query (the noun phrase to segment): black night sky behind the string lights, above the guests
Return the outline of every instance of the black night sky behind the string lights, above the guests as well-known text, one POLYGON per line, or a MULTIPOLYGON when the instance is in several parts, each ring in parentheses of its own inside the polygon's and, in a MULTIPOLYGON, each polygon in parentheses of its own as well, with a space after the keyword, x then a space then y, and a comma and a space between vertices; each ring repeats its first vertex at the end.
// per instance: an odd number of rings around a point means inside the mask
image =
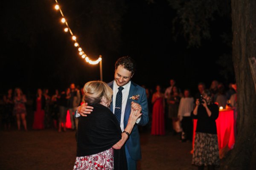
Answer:
MULTIPOLYGON (((231 48, 224 44, 223 31, 231 32, 231 21, 217 18, 210 23, 212 37, 200 48, 187 48, 180 34, 173 40, 172 20, 175 11, 166 0, 148 4, 145 0, 58 0, 70 28, 84 51, 96 59, 102 55, 103 80, 113 80, 117 58, 130 55, 137 61, 132 80, 139 85, 164 88, 169 79, 180 88, 195 91, 203 81, 228 83, 216 63, 231 48), (168 61, 170 60, 170 61, 168 61)), ((5 2, 1 8, 1 93, 21 87, 31 93, 36 88, 67 87, 70 82, 83 86, 100 79, 99 65, 89 65, 73 46, 70 34, 64 33, 55 11, 54 0, 5 2)))

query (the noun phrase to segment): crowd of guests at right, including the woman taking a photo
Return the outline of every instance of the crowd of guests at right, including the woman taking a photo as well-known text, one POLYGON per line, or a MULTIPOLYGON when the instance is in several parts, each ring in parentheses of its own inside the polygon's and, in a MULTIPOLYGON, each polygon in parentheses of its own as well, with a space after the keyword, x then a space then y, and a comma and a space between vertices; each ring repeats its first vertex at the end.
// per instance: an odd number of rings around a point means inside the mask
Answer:
MULTIPOLYGON (((150 93, 150 90, 146 91, 150 93)), ((198 170, 214 170, 219 166, 218 136, 215 120, 219 110, 234 109, 236 119, 236 84, 224 84, 213 80, 206 88, 204 82, 198 83, 198 92, 192 96, 189 89, 181 89, 174 79, 163 92, 156 85, 155 92, 148 94, 148 102, 152 104, 151 135, 165 135, 169 130, 173 135, 180 134, 181 142, 192 142, 193 119, 197 120, 195 140, 192 150, 192 164, 198 170), (151 96, 151 97, 150 97, 151 96)))

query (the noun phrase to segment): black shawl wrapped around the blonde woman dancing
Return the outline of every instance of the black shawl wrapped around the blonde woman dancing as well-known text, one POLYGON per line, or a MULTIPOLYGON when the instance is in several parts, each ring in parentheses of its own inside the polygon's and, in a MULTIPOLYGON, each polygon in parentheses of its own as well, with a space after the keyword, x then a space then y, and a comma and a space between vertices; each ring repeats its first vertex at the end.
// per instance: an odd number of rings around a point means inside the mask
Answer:
MULTIPOLYGON (((92 106, 91 114, 79 117, 76 154, 78 157, 108 150, 122 138, 122 130, 114 114, 101 104, 92 106)), ((120 150, 114 149, 114 169, 127 169, 124 146, 120 150)))

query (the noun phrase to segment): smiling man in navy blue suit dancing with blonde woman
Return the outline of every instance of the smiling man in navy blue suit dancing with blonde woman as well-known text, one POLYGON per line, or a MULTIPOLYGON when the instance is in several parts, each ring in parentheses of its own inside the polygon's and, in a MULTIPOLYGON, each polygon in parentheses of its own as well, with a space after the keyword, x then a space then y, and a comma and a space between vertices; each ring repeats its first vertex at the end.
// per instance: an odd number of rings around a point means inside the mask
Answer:
MULTIPOLYGON (((108 83, 108 85, 113 89, 113 98, 110 109, 114 114, 115 112, 116 114, 117 112, 120 112, 117 111, 118 109, 121 110, 121 114, 117 119, 120 119, 119 121, 122 131, 125 129, 128 123, 131 109, 137 110, 139 107, 141 107, 142 116, 137 119, 137 124, 134 125, 130 137, 125 143, 125 154, 128 170, 136 170, 137 160, 141 159, 140 134, 138 126, 144 126, 148 123, 148 102, 145 89, 131 81, 131 77, 133 77, 135 72, 135 65, 135 62, 131 57, 127 56, 119 58, 115 63, 114 80, 108 83), (122 106, 116 107, 116 105, 119 105, 117 104, 117 100, 120 98, 118 96, 118 93, 120 93, 120 87, 122 87, 122 106)), ((77 108, 76 117, 80 115, 86 116, 86 114, 90 113, 92 109, 93 108, 87 106, 87 104, 79 106, 77 108)))

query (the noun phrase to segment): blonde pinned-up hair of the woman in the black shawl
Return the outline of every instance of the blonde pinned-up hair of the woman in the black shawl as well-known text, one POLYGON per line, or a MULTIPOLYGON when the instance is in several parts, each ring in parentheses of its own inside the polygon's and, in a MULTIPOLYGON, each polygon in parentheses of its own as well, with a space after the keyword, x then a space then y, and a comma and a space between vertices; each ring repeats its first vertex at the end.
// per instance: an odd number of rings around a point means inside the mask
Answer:
POLYGON ((113 90, 102 81, 90 81, 84 85, 84 102, 88 105, 95 105, 101 102, 103 96, 110 103, 112 100, 113 90))

